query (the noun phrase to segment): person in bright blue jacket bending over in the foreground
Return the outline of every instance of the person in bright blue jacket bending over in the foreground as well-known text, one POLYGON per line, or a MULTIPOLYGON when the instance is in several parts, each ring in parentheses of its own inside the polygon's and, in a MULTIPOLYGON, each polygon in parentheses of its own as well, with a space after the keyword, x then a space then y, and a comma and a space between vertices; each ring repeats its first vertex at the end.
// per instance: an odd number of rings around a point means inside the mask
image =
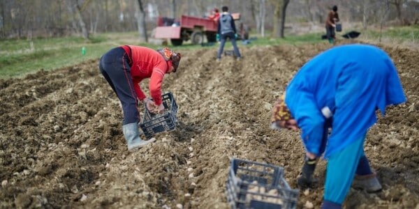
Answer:
POLYGON ((297 184, 311 183, 316 161, 328 160, 322 208, 341 208, 353 187, 382 189, 363 144, 376 110, 406 102, 390 57, 372 45, 341 45, 305 63, 272 110, 272 127, 301 130, 306 150, 297 184), (331 132, 330 132, 331 130, 331 132))

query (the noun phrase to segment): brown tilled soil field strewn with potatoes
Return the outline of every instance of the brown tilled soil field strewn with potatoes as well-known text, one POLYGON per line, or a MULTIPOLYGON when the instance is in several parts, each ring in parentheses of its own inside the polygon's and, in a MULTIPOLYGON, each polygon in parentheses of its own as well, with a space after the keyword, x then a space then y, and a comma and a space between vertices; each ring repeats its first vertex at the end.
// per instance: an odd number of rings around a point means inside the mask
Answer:
MULTIPOLYGON (((0 80, 0 208, 229 208, 230 157, 284 167, 296 188, 300 133, 271 130, 270 111, 295 72, 330 47, 241 47, 242 61, 220 63, 215 49, 180 50, 178 72, 163 82, 179 107, 177 128, 135 152, 98 60, 0 80)), ((381 47, 408 102, 389 107, 367 135, 383 191, 351 189, 344 207, 419 208, 419 52, 381 47)), ((297 208, 320 207, 324 176, 321 161, 318 187, 300 191, 297 208)))

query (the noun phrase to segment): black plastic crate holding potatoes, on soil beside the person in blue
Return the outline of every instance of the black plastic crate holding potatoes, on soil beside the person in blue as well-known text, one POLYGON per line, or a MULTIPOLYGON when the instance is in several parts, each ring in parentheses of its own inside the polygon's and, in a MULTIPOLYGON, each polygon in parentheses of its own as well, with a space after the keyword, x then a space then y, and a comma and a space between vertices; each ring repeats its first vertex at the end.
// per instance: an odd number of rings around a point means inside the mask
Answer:
POLYGON ((284 179, 284 169, 271 164, 231 159, 226 182, 231 208, 297 208, 298 189, 284 179))

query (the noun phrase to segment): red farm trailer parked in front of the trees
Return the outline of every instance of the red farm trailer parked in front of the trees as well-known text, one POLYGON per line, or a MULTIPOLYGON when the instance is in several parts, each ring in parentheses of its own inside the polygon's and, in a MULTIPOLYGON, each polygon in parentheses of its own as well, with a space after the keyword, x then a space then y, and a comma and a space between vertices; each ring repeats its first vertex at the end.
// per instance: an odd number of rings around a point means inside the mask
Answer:
MULTIPOLYGON (((240 13, 233 13, 234 20, 240 20, 240 13)), ((193 44, 202 44, 204 36, 208 42, 216 42, 218 22, 205 17, 182 15, 179 22, 172 20, 168 25, 163 21, 166 17, 159 17, 154 38, 168 38, 172 45, 182 45, 183 41, 191 40, 193 44)), ((170 20, 166 18, 166 20, 170 20)), ((170 21, 169 21, 170 22, 170 21)))

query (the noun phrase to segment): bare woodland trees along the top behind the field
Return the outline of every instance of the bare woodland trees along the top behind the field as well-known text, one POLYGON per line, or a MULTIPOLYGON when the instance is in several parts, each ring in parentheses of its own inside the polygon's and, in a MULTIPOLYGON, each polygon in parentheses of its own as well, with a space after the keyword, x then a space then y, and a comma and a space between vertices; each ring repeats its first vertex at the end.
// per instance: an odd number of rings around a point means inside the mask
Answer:
POLYGON ((59 37, 138 31, 147 41, 159 16, 205 17, 228 6, 254 33, 284 37, 286 24, 323 24, 336 3, 341 20, 377 25, 419 24, 418 0, 0 0, 0 38, 59 37))

